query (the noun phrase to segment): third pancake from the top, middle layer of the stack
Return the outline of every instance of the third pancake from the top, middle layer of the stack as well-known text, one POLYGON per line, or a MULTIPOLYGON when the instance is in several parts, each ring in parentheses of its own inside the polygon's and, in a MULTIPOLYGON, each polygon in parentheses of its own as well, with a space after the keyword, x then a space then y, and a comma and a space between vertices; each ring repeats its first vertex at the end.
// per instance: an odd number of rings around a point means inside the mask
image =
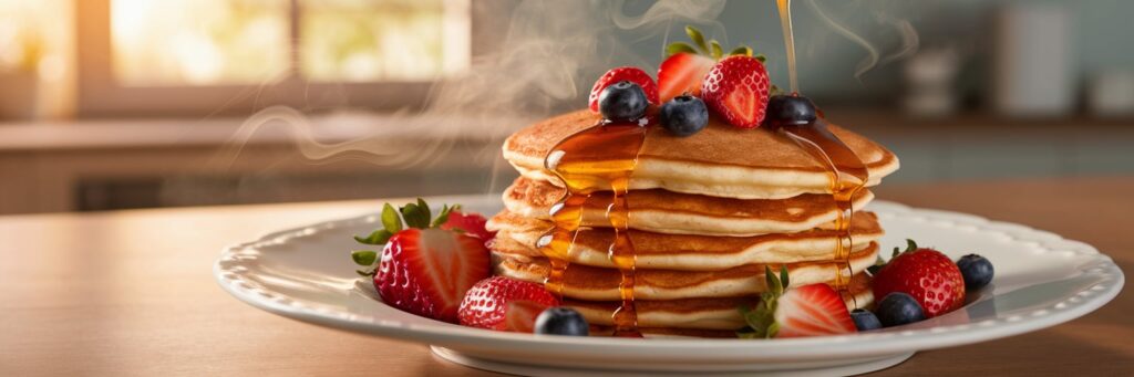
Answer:
MULTIPOLYGON (((536 243, 551 223, 503 211, 489 221, 489 229, 497 231, 491 248, 494 251, 542 257, 536 243)), ((862 250, 882 237, 878 217, 860 212, 850 223, 852 250, 862 250)), ((627 232, 641 268, 685 271, 714 271, 747 264, 780 264, 835 258, 839 233, 816 229, 799 233, 772 233, 752 237, 712 237, 694 234, 665 234, 631 230, 627 232)), ((607 250, 613 240, 609 228, 581 229, 575 238, 569 262, 581 265, 613 268, 607 250)))

